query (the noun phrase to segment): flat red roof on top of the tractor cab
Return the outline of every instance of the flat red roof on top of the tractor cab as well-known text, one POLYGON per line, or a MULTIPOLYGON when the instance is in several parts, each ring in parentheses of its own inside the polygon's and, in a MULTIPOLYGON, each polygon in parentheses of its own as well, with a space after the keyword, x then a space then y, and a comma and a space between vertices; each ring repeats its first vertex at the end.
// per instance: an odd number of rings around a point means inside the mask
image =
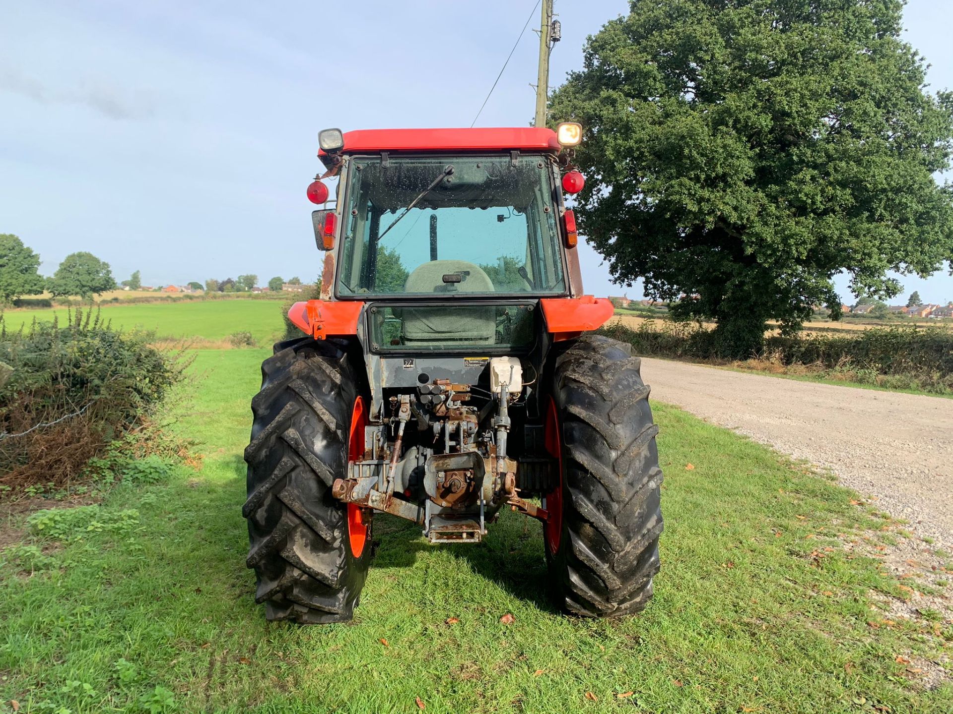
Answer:
MULTIPOLYGON (((553 129, 359 129, 344 132, 344 153, 377 151, 557 151, 553 129)), ((319 151, 318 156, 323 156, 319 151)))

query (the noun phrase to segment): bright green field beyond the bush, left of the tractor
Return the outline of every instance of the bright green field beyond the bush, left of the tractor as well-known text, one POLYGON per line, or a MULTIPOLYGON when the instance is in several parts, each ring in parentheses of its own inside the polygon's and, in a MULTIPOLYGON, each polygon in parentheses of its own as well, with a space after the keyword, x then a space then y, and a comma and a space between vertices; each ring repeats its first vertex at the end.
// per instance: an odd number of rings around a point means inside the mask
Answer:
MULTIPOLYGON (((148 293, 147 293, 148 294, 148 293)), ((4 315, 7 329, 29 326, 33 319, 65 321, 66 307, 12 310, 4 315)), ((274 300, 215 300, 182 303, 103 306, 102 316, 113 327, 153 330, 158 337, 197 337, 222 340, 233 332, 251 332, 261 345, 280 337, 281 307, 274 300)))

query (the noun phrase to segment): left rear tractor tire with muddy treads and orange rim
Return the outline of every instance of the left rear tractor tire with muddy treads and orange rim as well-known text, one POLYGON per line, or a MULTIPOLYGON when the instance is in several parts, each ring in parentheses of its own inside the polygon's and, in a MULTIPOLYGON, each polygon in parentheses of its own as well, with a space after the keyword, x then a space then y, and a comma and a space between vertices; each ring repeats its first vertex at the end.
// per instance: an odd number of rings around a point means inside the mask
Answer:
POLYGON ((275 345, 261 373, 242 509, 255 602, 269 620, 346 622, 371 560, 369 517, 331 495, 349 442, 363 448, 354 371, 334 341, 303 338, 275 345))

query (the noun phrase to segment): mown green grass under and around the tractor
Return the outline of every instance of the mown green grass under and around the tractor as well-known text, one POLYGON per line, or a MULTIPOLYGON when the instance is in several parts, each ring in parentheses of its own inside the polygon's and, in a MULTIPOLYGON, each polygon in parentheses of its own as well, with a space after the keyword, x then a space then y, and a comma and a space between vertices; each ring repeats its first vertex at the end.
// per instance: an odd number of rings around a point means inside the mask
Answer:
POLYGON ((891 620, 881 608, 905 591, 842 546, 876 539, 884 521, 672 407, 656 407, 666 529, 641 616, 554 611, 540 528, 507 512, 483 545, 430 546, 378 517, 353 623, 266 623, 240 513, 266 354, 198 353, 178 427, 204 464, 108 493, 101 512, 134 509, 132 526, 77 526, 65 544, 31 536, 0 556, 0 699, 61 714, 418 712, 416 698, 428 714, 953 711, 948 680, 926 689, 898 662, 939 661, 953 628, 891 620))

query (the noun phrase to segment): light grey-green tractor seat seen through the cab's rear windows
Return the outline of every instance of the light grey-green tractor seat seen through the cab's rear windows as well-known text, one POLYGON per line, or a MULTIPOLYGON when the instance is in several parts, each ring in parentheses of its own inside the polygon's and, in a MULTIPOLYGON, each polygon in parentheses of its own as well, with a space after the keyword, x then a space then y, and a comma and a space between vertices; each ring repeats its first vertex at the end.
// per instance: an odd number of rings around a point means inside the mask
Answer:
MULTIPOLYGON (((463 260, 434 260, 415 268, 404 285, 407 293, 435 293, 452 301, 466 292, 493 292, 493 281, 483 268, 463 260), (460 275, 459 283, 444 283, 443 276, 460 275)), ((493 345, 497 337, 495 307, 404 307, 404 343, 436 346, 445 343, 493 345)))

